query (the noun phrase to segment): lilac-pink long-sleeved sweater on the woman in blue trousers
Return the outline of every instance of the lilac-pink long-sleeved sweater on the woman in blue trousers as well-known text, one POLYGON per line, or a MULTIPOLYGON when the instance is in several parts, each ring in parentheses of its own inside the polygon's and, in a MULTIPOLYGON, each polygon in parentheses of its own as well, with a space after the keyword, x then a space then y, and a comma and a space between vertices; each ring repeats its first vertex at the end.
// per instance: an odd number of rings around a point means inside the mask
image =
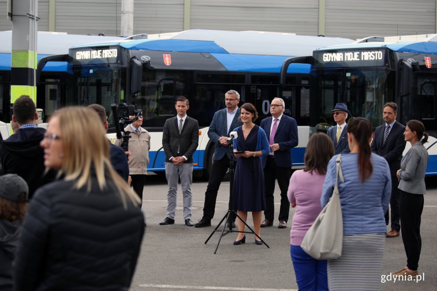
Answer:
POLYGON ((290 203, 296 202, 296 211, 290 231, 290 244, 301 245, 303 236, 322 210, 320 196, 325 175, 298 170, 291 175, 287 196, 290 203))

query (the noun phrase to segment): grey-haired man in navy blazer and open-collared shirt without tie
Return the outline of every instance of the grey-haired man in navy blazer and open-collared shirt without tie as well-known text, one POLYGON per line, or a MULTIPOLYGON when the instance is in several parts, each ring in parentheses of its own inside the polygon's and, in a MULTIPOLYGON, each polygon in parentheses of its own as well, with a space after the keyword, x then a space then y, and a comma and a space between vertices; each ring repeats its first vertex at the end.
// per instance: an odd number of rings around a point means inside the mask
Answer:
MULTIPOLYGON (((211 226, 211 219, 214 217, 214 210, 216 208, 218 188, 220 187, 221 180, 223 180, 229 169, 229 162, 231 161, 227 138, 232 130, 243 124, 237 120, 238 116, 240 116, 240 109, 237 106, 239 101, 240 94, 238 94, 238 92, 235 90, 226 92, 226 108, 214 113, 213 121, 209 126, 208 137, 214 144, 214 163, 205 192, 203 216, 202 219, 194 225, 195 227, 211 226)), ((233 217, 233 221, 235 221, 235 216, 233 217)), ((232 224, 232 227, 235 227, 234 222, 232 222, 232 224)))

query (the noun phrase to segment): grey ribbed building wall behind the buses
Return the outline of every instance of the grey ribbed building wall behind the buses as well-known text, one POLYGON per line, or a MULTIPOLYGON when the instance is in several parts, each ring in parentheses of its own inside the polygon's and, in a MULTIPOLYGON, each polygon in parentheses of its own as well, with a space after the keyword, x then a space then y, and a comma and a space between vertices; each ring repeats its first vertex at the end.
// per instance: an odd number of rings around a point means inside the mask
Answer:
MULTIPOLYGON (((55 31, 120 34, 122 0, 39 0, 39 31, 49 30, 49 3, 55 3, 55 31)), ((134 0, 134 34, 184 30, 190 3, 190 29, 319 33, 319 1, 325 2, 324 34, 370 35, 436 33, 437 0, 134 0)), ((0 0, 0 31, 11 30, 7 0, 0 0)), ((320 23, 323 26, 323 23, 320 23)))

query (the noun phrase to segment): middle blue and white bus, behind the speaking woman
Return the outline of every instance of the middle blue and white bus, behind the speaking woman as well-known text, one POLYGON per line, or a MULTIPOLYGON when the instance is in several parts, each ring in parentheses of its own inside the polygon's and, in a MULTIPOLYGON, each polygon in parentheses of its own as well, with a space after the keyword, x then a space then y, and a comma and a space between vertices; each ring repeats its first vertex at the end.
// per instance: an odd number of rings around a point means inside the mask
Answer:
MULTIPOLYGON (((310 65, 292 65, 287 85, 281 89, 279 72, 292 56, 303 56, 327 45, 353 42, 344 38, 302 36, 274 32, 225 32, 189 30, 166 39, 137 39, 74 47, 68 56, 73 81, 68 95, 78 104, 98 103, 105 107, 110 126, 110 105, 125 102, 143 112, 143 127, 151 134, 148 171, 165 170, 162 129, 166 119, 176 115, 178 96, 189 99, 187 114, 199 121, 199 147, 194 170, 208 176, 214 146, 207 130, 216 111, 225 107, 230 89, 243 102, 253 103, 261 119, 269 114, 270 100, 282 97, 285 114, 296 118, 299 146, 293 149, 293 163, 303 164, 309 134, 310 65)), ((42 67, 44 60, 38 67, 42 67)), ((111 132, 111 131, 110 131, 111 132)), ((114 130, 112 131, 114 132, 114 130)), ((109 137, 114 140, 115 134, 109 137)))

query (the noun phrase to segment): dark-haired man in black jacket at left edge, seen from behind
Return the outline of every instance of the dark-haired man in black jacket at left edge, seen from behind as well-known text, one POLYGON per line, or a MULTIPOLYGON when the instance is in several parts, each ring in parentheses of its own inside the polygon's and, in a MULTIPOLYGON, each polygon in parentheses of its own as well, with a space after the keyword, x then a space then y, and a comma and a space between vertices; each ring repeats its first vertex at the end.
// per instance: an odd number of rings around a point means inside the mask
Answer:
POLYGON ((29 198, 35 190, 50 182, 51 175, 44 175, 44 151, 39 143, 46 129, 36 127, 36 106, 27 95, 20 96, 12 107, 12 121, 18 130, 0 145, 0 161, 5 174, 17 174, 29 185, 29 198))

